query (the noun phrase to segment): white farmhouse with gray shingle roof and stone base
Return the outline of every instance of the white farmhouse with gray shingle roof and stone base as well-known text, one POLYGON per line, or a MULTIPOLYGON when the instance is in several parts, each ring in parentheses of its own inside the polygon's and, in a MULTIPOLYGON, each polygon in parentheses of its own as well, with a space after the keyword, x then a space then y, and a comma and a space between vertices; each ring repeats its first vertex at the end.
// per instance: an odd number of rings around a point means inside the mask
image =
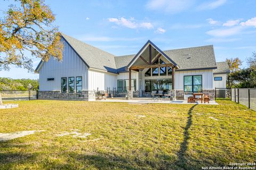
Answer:
POLYGON ((50 58, 35 70, 41 99, 95 100, 95 92, 107 90, 132 98, 171 89, 183 97, 226 88, 229 70, 215 62, 212 45, 162 51, 148 40, 135 55, 115 56, 65 34, 61 41, 62 61, 50 58))

